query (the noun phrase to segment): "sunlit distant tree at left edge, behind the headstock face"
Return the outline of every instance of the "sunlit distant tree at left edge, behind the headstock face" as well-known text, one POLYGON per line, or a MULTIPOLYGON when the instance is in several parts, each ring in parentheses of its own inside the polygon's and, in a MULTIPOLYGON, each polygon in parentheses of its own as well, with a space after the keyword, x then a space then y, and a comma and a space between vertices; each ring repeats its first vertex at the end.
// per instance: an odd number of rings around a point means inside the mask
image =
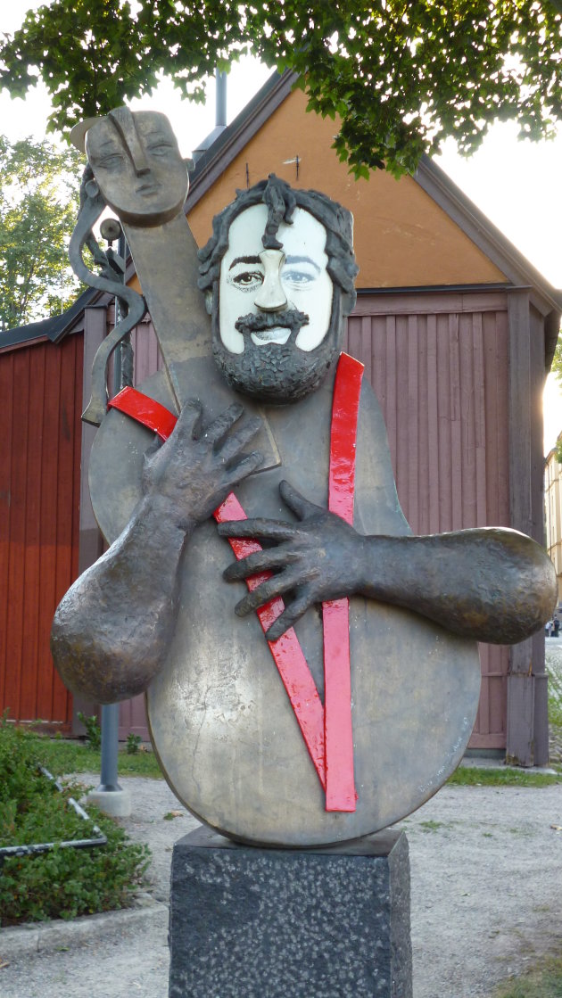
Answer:
POLYGON ((57 315, 79 283, 68 261, 81 157, 0 136, 0 330, 57 315))

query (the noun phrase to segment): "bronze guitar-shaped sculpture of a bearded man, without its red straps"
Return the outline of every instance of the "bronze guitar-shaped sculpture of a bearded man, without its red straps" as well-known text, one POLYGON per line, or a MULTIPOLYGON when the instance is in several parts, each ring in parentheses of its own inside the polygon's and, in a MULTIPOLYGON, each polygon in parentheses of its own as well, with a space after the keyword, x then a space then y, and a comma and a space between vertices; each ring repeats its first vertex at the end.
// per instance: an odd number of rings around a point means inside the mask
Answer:
POLYGON ((513 643, 538 630, 556 598, 554 570, 514 531, 412 537, 365 383, 353 525, 329 511, 335 361, 353 303, 350 218, 271 178, 216 220, 198 276, 180 205, 185 170, 162 118, 120 110, 90 123, 87 146, 91 194, 125 226, 165 355, 168 376, 143 392, 182 412, 146 456, 144 427, 118 411, 104 419, 91 490, 112 547, 61 602, 53 655, 67 685, 94 699, 148 688, 164 771, 213 827, 272 844, 356 838, 418 806, 458 763, 478 702, 475 640, 513 643), (187 272, 182 300, 178 259, 187 272), (165 263, 174 271, 172 305, 165 263), (189 314, 186 300, 195 302, 189 314), (247 454, 254 438, 258 449, 247 454), (210 517, 235 486, 250 519, 219 533, 263 540, 266 550, 233 566, 210 517), (241 580, 264 571, 272 578, 243 596, 241 580), (253 612, 280 596, 289 599, 270 621, 272 653, 294 628, 318 716, 319 605, 351 597, 356 804, 325 809, 321 766, 314 771, 253 612))

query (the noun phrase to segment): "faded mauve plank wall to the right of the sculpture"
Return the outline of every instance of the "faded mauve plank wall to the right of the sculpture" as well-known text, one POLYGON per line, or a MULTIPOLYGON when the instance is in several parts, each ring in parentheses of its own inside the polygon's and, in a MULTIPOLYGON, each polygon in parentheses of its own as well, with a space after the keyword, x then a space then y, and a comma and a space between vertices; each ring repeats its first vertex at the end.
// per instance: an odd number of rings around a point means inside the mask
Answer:
MULTIPOLYGON (((347 349, 376 392, 414 533, 510 525, 502 293, 360 295, 347 349)), ((472 748, 503 749, 509 652, 480 646, 472 748)))

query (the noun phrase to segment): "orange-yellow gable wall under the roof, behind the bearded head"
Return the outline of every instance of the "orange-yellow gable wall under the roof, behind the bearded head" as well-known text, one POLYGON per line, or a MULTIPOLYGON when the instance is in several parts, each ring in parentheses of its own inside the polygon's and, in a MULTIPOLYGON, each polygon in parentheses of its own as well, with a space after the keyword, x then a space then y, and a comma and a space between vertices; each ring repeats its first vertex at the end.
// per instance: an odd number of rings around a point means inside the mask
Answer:
POLYGON ((359 275, 357 287, 407 287, 505 281, 505 275, 468 239, 411 177, 384 171, 354 181, 330 149, 336 124, 306 114, 294 91, 189 213, 200 246, 213 216, 247 187, 277 174, 293 187, 315 188, 352 212, 359 275), (286 164, 298 155, 295 164, 286 164))

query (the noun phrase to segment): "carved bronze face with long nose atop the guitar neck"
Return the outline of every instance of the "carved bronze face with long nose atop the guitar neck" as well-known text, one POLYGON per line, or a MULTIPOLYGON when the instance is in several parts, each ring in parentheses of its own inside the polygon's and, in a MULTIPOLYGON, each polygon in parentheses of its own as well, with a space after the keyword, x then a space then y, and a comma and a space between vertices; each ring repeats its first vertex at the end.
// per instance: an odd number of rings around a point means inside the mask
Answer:
POLYGON ((102 197, 131 226, 159 226, 182 210, 188 173, 166 115, 118 108, 95 121, 86 152, 102 197))

